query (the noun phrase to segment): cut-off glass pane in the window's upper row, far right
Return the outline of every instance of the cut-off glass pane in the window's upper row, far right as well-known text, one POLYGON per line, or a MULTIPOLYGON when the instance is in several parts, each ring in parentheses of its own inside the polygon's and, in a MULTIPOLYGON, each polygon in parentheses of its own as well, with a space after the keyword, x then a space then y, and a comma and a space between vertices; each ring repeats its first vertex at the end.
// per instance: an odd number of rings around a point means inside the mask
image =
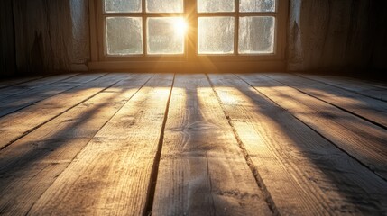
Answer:
POLYGON ((275 0, 240 0, 240 12, 275 12, 275 0))

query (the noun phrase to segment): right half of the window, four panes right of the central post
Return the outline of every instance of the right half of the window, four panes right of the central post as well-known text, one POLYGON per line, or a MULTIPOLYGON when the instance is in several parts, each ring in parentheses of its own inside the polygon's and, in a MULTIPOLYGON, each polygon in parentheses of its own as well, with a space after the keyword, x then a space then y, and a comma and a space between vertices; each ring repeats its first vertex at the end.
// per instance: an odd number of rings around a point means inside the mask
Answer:
POLYGON ((274 53, 275 0, 198 0, 198 13, 198 54, 274 53))

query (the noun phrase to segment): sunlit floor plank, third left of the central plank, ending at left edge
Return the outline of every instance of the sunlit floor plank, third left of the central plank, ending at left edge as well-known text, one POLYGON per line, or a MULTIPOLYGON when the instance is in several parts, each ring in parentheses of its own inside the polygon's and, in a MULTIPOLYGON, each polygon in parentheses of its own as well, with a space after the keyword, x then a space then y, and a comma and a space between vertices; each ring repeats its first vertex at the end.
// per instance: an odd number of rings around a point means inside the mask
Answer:
POLYGON ((130 75, 110 74, 0 118, 0 149, 130 75))

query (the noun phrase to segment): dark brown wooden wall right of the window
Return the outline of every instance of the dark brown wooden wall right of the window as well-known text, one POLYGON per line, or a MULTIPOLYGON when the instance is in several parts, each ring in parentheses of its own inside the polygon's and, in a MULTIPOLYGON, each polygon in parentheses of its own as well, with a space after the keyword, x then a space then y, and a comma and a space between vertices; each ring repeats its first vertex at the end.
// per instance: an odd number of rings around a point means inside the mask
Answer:
POLYGON ((387 1, 290 0, 288 68, 387 68, 386 11, 387 1))

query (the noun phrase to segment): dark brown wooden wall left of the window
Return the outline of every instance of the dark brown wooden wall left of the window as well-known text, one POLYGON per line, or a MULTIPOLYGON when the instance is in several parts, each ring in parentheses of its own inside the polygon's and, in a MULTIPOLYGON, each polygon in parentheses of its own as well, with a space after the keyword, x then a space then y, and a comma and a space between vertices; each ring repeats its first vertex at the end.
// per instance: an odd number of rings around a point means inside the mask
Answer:
POLYGON ((88 0, 2 0, 0 6, 0 76, 88 69, 88 0))

